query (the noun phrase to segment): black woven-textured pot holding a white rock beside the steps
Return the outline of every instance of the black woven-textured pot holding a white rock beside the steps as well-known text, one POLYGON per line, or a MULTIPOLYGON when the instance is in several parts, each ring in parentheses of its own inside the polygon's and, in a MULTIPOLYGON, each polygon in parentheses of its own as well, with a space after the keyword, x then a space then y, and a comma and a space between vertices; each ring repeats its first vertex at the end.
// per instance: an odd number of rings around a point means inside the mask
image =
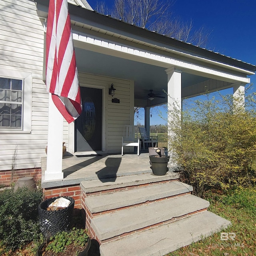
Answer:
POLYGON ((70 228, 75 204, 72 197, 62 196, 70 200, 71 203, 68 207, 55 211, 46 210, 52 202, 60 197, 61 196, 49 198, 38 206, 40 229, 46 238, 53 236, 57 232, 68 231, 70 228))

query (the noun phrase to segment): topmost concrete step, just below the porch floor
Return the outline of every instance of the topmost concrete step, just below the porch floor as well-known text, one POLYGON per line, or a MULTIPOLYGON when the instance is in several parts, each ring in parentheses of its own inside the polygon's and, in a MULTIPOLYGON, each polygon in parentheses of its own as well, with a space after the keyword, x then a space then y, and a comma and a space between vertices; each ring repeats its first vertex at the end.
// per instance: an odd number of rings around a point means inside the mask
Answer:
POLYGON ((101 192, 104 190, 114 190, 118 188, 126 188, 129 186, 140 186, 144 184, 152 184, 155 182, 163 182, 166 180, 177 180, 179 174, 175 172, 167 172, 166 175, 157 176, 153 173, 136 174, 129 176, 121 176, 108 178, 103 180, 82 181, 80 186, 87 193, 101 192))

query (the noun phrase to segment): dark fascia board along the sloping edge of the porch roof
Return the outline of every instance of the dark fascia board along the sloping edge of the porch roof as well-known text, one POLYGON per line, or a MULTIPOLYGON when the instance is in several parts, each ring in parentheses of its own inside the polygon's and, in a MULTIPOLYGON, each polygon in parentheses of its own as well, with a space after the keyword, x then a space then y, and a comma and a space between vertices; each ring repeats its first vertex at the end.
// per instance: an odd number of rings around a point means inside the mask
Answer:
POLYGON ((188 54, 192 54, 193 56, 201 56, 204 58, 214 59, 218 62, 228 63, 232 66, 238 66, 242 69, 248 71, 256 71, 256 66, 252 64, 248 64, 246 62, 242 62, 203 48, 198 46, 194 46, 192 44, 188 44, 174 38, 169 38, 167 36, 154 33, 152 31, 139 28, 137 26, 122 22, 120 20, 116 20, 114 18, 107 17, 102 14, 98 14, 96 12, 92 12, 89 10, 82 10, 82 13, 76 12, 77 6, 72 6, 70 9, 71 19, 77 22, 82 22, 84 24, 88 24, 95 28, 100 28, 106 31, 110 31, 113 33, 120 34, 122 36, 127 36, 130 38, 134 38, 136 40, 147 42, 150 44, 156 44, 161 47, 170 48, 180 51, 183 50, 188 54), (74 16, 73 16, 74 13, 74 16), (194 54, 196 55, 194 55, 194 54))

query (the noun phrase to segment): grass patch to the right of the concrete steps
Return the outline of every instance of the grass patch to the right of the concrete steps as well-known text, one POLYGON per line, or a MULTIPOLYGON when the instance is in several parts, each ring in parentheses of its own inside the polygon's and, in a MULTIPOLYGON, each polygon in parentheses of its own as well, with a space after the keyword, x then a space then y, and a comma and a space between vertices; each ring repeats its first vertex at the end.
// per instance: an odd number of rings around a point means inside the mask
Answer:
POLYGON ((255 256, 256 187, 237 188, 226 194, 211 191, 206 200, 210 201, 208 210, 230 220, 232 226, 222 230, 225 234, 218 232, 166 256, 255 256))

